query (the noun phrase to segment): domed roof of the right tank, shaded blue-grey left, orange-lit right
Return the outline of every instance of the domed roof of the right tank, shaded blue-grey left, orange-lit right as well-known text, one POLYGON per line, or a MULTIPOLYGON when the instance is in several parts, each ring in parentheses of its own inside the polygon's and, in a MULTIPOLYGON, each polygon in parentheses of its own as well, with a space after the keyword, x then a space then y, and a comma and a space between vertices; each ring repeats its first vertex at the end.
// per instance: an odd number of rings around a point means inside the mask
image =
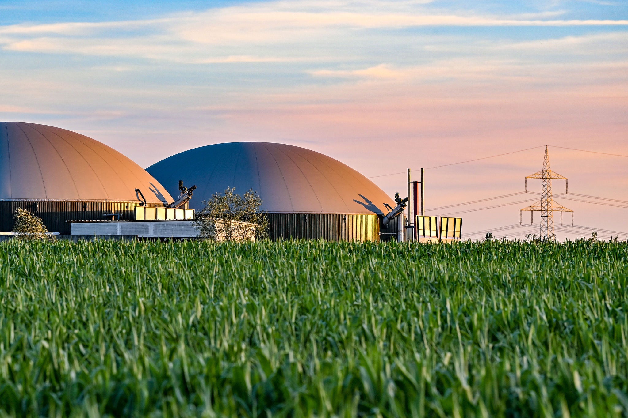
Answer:
POLYGON ((171 194, 178 180, 197 185, 190 201, 202 209, 215 192, 236 187, 263 199, 270 213, 382 214, 391 198, 364 175, 327 155, 293 145, 231 142, 168 157, 146 169, 171 194))

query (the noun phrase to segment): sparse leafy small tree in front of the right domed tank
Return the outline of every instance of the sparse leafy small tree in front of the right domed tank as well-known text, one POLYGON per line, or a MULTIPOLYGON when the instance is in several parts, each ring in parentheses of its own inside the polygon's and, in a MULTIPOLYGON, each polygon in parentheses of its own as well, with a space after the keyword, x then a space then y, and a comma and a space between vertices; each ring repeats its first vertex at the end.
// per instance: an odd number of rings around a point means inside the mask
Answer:
POLYGON ((224 241, 247 241, 249 237, 268 238, 268 215, 260 211, 262 199, 249 189, 244 196, 227 187, 224 193, 215 193, 197 213, 195 226, 202 238, 224 241))

